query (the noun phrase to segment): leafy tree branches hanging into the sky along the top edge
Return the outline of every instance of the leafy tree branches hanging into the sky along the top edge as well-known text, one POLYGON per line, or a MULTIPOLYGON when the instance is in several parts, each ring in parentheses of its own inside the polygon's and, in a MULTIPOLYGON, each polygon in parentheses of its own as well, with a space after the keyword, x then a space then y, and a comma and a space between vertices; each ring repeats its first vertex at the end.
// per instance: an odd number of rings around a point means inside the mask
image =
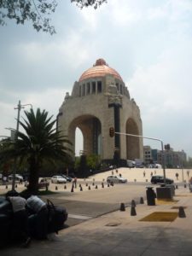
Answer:
MULTIPOLYGON (((93 6, 95 9, 107 0, 71 0, 81 9, 93 6)), ((36 31, 55 33, 55 27, 50 24, 49 15, 55 12, 56 0, 0 0, 0 25, 6 25, 6 19, 15 20, 16 24, 32 21, 36 31)))

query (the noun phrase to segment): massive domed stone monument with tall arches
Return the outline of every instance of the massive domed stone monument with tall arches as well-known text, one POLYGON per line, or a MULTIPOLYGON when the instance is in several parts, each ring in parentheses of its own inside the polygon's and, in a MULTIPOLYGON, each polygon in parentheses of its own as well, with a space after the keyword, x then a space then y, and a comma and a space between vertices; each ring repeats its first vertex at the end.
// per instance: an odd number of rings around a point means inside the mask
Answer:
POLYGON ((143 159, 142 138, 109 136, 110 127, 142 136, 143 127, 140 110, 123 79, 102 59, 74 83, 59 110, 58 128, 73 143, 73 152, 77 127, 83 134, 85 154, 100 154, 102 160, 110 161, 116 151, 120 160, 143 159))

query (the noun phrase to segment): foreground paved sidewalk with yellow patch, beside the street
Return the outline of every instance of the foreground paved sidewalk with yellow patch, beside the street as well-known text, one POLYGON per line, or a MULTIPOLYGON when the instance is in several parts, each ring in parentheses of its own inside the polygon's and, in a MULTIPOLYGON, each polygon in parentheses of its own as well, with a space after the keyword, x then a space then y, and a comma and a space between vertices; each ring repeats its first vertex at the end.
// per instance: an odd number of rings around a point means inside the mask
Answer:
POLYGON ((137 204, 136 216, 131 207, 125 212, 111 212, 99 218, 51 234, 48 241, 32 241, 31 247, 9 247, 1 255, 70 255, 70 256, 177 256, 192 255, 192 194, 183 187, 176 189, 173 202, 149 207, 137 204), (186 218, 172 222, 140 221, 152 212, 178 212, 172 207, 186 207, 186 218))

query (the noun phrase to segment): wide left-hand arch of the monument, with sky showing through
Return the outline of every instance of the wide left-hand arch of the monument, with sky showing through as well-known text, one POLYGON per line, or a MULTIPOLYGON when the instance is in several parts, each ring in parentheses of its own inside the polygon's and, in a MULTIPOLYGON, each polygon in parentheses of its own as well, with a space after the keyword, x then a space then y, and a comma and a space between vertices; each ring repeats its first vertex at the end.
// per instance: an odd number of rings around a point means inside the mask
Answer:
POLYGON ((100 119, 94 115, 84 114, 79 116, 68 126, 68 138, 73 143, 73 152, 75 152, 75 131, 76 128, 83 135, 84 154, 102 154, 102 124, 100 119))

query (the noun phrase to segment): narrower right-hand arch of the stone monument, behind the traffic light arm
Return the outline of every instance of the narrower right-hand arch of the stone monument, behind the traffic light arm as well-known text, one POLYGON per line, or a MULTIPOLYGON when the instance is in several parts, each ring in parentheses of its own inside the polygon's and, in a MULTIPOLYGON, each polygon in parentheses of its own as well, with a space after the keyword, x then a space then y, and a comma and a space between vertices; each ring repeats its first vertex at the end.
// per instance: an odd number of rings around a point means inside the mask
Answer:
MULTIPOLYGON (((139 135, 138 126, 134 119, 127 119, 126 133, 139 135)), ((139 137, 126 136, 126 158, 127 160, 140 158, 139 137)))

